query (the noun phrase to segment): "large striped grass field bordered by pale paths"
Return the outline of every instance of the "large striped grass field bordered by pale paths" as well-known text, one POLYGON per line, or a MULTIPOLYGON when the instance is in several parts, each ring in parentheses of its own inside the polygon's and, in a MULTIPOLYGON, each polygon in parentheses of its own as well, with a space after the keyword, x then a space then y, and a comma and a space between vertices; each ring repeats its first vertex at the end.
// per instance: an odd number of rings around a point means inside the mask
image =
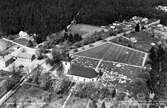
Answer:
POLYGON ((142 66, 145 53, 118 44, 105 43, 74 55, 142 66))

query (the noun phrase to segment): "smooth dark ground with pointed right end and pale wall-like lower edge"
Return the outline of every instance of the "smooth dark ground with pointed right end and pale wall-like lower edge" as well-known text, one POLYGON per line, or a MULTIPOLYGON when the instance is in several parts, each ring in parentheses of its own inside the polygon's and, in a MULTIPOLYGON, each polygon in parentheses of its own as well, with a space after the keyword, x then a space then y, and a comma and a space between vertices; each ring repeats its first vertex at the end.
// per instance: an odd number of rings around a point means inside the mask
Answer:
POLYGON ((98 75, 98 73, 94 69, 78 64, 72 64, 68 74, 85 78, 96 78, 98 75))

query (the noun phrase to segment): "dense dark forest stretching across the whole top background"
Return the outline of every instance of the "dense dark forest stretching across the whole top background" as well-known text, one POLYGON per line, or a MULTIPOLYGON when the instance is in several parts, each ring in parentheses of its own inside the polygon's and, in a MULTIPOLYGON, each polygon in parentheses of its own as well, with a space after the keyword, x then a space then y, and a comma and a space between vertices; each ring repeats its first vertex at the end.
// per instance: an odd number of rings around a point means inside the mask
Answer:
POLYGON ((167 25, 167 13, 155 9, 166 4, 167 0, 0 0, 0 30, 5 35, 36 33, 40 43, 73 18, 77 23, 107 25, 141 16, 167 25))

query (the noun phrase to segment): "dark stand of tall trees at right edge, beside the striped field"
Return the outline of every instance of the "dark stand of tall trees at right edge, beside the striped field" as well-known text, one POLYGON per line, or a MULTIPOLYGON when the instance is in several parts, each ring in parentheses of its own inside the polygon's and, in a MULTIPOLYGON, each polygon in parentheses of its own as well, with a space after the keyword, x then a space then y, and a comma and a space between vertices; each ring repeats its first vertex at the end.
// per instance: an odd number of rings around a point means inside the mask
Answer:
POLYGON ((154 47, 150 50, 150 59, 152 70, 150 73, 150 79, 147 81, 148 87, 151 93, 155 93, 154 101, 165 97, 166 78, 167 78, 167 51, 161 46, 154 47), (153 51, 155 50, 156 51, 153 51))

